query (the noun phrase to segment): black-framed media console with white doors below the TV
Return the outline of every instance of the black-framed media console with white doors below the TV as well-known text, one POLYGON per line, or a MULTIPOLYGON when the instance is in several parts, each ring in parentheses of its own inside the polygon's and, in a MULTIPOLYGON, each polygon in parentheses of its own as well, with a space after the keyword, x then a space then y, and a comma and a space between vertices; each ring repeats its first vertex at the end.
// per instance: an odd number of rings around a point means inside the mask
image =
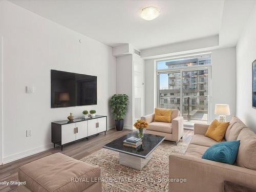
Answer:
POLYGON ((102 115, 87 119, 75 118, 73 121, 52 122, 52 143, 54 143, 54 147, 55 144, 60 145, 62 151, 65 144, 103 132, 106 134, 106 127, 107 118, 102 115))

